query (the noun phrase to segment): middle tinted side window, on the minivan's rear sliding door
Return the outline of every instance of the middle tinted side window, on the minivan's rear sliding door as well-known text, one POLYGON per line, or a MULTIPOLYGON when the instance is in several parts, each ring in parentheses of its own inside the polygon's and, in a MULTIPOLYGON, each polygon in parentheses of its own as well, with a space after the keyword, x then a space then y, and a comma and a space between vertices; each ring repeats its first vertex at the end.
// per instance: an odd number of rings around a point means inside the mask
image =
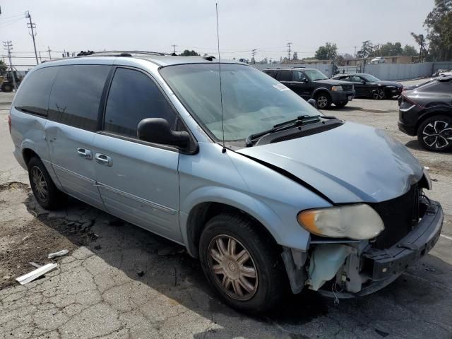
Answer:
POLYGON ((49 119, 96 131, 100 97, 110 66, 59 66, 49 100, 49 119))

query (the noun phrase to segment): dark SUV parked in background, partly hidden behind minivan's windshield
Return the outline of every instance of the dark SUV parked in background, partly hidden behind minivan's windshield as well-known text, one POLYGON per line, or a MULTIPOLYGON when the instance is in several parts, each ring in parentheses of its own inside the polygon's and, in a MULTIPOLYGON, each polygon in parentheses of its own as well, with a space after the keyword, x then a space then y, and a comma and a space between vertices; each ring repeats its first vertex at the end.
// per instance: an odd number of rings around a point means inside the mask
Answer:
POLYGON ((263 71, 304 100, 314 98, 320 109, 328 108, 331 104, 344 107, 355 97, 355 88, 351 83, 328 79, 316 69, 264 69, 263 71))

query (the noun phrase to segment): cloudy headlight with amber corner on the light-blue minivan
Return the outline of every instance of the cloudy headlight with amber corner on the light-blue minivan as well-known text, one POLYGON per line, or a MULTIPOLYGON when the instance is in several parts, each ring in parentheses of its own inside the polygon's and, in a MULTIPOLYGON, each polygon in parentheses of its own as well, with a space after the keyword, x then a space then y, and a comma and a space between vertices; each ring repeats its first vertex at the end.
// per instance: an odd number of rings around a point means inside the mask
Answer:
POLYGON ((365 203, 304 210, 297 220, 309 232, 323 237, 372 239, 384 230, 383 220, 365 203))

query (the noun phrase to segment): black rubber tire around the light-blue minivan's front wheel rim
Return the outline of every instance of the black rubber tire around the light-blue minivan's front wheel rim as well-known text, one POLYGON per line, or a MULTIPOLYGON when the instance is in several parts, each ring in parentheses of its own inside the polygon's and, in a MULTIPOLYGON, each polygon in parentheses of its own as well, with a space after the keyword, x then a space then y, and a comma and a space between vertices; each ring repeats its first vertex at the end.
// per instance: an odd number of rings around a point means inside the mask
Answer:
MULTIPOLYGON (((212 285, 217 292, 217 294, 221 297, 221 299, 231 307, 236 309, 240 309, 241 311, 249 312, 249 313, 259 313, 261 311, 265 311, 267 309, 266 301, 268 300, 269 293, 274 290, 275 286, 272 286, 275 283, 273 279, 273 275, 275 272, 272 270, 278 263, 278 260, 274 260, 275 262, 266 262, 268 261, 268 256, 263 255, 261 253, 262 249, 261 245, 257 242, 254 242, 253 237, 256 234, 246 234, 246 229, 240 230, 237 225, 231 225, 229 222, 225 222, 222 218, 213 218, 206 225, 206 229, 201 234, 200 246, 199 246, 199 256, 201 259, 201 266, 203 268, 203 272, 206 275, 210 285, 212 285), (256 271, 258 275, 258 287, 256 294, 251 297, 251 299, 240 301, 236 299, 232 299, 222 291, 221 287, 218 286, 215 277, 213 276, 212 271, 209 267, 209 258, 208 258, 208 246, 210 244, 210 240, 215 236, 220 234, 230 235, 237 239, 242 243, 246 250, 249 252, 251 258, 254 261, 254 265, 256 266, 256 271), (270 267, 269 267, 270 266, 270 267)), ((273 246, 273 244, 270 244, 273 246)))

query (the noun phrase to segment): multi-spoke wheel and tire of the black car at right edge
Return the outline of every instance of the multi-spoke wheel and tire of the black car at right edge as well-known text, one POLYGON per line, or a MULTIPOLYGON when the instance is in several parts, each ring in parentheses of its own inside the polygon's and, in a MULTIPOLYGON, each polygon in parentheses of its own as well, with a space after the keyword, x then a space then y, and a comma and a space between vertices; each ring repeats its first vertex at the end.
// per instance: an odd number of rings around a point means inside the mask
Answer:
POLYGON ((452 150, 452 117, 435 115, 422 121, 417 129, 417 141, 426 150, 452 150))

